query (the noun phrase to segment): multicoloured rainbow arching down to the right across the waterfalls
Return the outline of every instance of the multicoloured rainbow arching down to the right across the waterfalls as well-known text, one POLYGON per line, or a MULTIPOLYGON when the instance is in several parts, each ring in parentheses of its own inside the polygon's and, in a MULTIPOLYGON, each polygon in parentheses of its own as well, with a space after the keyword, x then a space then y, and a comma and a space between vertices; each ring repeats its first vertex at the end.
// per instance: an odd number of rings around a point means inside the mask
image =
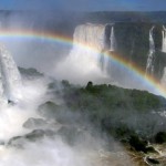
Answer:
MULTIPOLYGON (((0 31, 0 41, 3 40, 19 40, 19 39, 35 39, 35 40, 45 40, 48 42, 61 43, 66 45, 72 45, 73 40, 71 37, 51 33, 51 32, 38 32, 38 31, 30 31, 30 30, 1 30, 0 31)), ((86 45, 85 43, 74 43, 83 46, 85 49, 92 50, 97 52, 94 48, 86 45)), ((118 54, 104 52, 102 53, 104 56, 108 56, 112 61, 117 63, 118 65, 125 68, 126 70, 131 71, 138 80, 142 80, 151 90, 155 90, 154 92, 158 95, 166 97, 166 89, 160 85, 160 83, 152 77, 151 75, 145 76, 145 72, 138 68, 135 63, 129 63, 128 61, 120 56, 118 54)))

